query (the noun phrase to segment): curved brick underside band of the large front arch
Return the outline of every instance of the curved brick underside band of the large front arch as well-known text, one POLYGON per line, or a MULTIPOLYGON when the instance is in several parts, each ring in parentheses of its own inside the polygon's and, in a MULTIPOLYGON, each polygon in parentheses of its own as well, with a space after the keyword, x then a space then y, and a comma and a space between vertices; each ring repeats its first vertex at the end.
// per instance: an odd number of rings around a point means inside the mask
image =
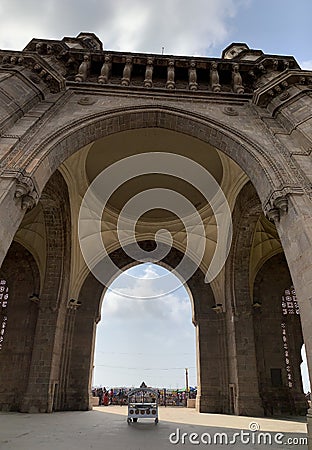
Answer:
POLYGON ((33 145, 33 152, 28 153, 22 166, 42 191, 62 162, 82 147, 110 134, 147 127, 187 134, 220 150, 249 176, 263 201, 272 189, 280 188, 283 183, 285 164, 281 167, 281 159, 272 151, 266 152, 242 132, 214 119, 195 113, 190 116, 189 112, 164 106, 118 108, 72 121, 44 139, 39 133, 37 145, 33 145))

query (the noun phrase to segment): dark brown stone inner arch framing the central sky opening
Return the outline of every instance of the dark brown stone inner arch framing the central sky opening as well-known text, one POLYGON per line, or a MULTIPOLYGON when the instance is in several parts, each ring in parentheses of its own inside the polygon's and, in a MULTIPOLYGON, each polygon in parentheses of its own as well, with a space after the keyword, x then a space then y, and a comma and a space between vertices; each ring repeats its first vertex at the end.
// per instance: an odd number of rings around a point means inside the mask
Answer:
MULTIPOLYGON (((151 241, 141 242, 142 248, 154 248, 151 241)), ((135 263, 123 249, 110 257, 120 269, 135 263)), ((163 263, 176 267, 183 254, 172 248, 163 263)), ((193 299, 193 323, 197 330, 198 397, 197 408, 201 412, 222 413, 227 411, 227 354, 222 315, 214 311, 212 290, 204 281, 204 274, 197 269, 187 286, 193 299)), ((93 367, 93 351, 96 323, 99 320, 100 301, 104 287, 90 273, 82 286, 78 304, 68 333, 70 354, 67 363, 68 390, 64 409, 88 409, 93 367), (83 330, 83 331, 82 331, 83 330)))

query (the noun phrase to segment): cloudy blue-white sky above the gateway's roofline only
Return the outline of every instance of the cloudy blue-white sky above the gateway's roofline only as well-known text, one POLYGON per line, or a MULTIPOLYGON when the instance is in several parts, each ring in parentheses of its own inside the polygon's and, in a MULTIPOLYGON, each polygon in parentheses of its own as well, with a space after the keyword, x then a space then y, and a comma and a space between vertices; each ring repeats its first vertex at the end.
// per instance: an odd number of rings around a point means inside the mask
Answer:
POLYGON ((311 16, 310 0, 1 0, 0 48, 92 31, 110 50, 218 57, 246 42, 310 68, 311 16))

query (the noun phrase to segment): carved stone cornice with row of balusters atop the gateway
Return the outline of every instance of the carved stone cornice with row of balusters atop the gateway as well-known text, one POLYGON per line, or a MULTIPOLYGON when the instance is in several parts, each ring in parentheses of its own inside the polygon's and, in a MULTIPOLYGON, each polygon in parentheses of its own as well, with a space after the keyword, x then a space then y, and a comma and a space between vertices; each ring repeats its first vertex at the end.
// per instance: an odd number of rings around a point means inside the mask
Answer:
POLYGON ((40 83, 42 79, 52 91, 64 89, 65 82, 76 82, 97 83, 103 88, 109 84, 241 96, 253 94, 281 73, 300 69, 291 56, 265 55, 246 45, 244 49, 231 58, 125 54, 103 51, 94 34, 80 33, 62 41, 33 39, 22 52, 0 52, 0 62, 2 57, 3 66, 27 63, 33 72, 30 80, 40 83))

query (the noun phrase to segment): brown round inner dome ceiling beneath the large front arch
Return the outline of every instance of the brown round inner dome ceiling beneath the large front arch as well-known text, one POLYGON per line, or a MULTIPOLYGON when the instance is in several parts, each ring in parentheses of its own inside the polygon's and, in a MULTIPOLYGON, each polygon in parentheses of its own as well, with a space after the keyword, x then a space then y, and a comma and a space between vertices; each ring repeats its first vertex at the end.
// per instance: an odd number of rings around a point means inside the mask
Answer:
MULTIPOLYGON (((97 175, 111 164, 132 155, 146 152, 168 152, 185 156, 200 164, 221 184, 223 168, 218 152, 202 141, 159 128, 124 131, 96 141, 86 159, 86 173, 91 183, 97 175)), ((193 175, 194 176, 194 175, 193 175)), ((195 174, 198 177, 204 175, 195 174)), ((108 206, 119 212, 131 198, 153 188, 165 188, 178 192, 188 199, 197 210, 207 204, 196 187, 181 178, 159 173, 137 176, 122 184, 110 197, 108 206)), ((174 214, 162 209, 153 209, 142 216, 148 220, 172 220, 174 214)))

